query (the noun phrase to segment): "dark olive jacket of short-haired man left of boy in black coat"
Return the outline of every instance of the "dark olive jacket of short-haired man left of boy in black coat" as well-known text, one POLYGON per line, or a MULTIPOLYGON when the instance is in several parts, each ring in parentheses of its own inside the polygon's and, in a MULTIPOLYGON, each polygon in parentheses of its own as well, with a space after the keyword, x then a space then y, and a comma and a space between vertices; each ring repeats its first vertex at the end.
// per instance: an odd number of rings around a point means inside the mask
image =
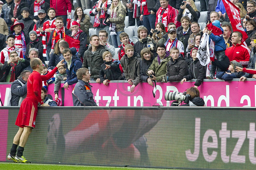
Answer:
POLYGON ((84 52, 83 67, 90 67, 91 78, 96 80, 100 78, 99 72, 101 65, 104 63, 102 59, 103 52, 107 51, 102 45, 99 45, 97 50, 92 54, 92 47, 84 52))

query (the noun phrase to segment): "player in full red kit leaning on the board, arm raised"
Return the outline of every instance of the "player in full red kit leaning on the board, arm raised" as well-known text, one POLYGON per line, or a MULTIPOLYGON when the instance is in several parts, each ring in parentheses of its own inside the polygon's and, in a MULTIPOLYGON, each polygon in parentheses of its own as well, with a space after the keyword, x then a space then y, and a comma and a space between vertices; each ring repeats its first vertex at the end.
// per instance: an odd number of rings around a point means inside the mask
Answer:
POLYGON ((41 99, 42 81, 49 80, 58 70, 58 68, 64 65, 62 64, 63 61, 64 60, 61 60, 52 70, 52 72, 46 75, 41 75, 41 72, 43 71, 43 63, 39 58, 33 58, 30 61, 30 66, 33 69, 33 72, 28 77, 27 97, 20 105, 20 111, 15 122, 15 125, 19 126, 20 128, 13 139, 13 144, 11 152, 8 155, 8 159, 11 159, 14 162, 31 163, 24 158, 23 151, 32 128, 35 128, 37 104, 39 102, 41 106, 49 106, 49 104, 45 104, 41 99), (18 145, 19 148, 16 155, 18 145))

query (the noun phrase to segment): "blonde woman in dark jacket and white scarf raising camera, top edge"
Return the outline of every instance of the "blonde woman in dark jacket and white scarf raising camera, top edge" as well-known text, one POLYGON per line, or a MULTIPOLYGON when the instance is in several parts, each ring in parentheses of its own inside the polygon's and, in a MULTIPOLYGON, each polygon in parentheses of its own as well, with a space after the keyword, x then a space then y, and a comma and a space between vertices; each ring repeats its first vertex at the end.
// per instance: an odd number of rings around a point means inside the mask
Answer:
POLYGON ((181 17, 188 16, 190 22, 198 22, 200 18, 200 12, 196 9, 196 5, 193 0, 183 1, 184 5, 180 6, 180 11, 177 20, 180 21, 181 17))

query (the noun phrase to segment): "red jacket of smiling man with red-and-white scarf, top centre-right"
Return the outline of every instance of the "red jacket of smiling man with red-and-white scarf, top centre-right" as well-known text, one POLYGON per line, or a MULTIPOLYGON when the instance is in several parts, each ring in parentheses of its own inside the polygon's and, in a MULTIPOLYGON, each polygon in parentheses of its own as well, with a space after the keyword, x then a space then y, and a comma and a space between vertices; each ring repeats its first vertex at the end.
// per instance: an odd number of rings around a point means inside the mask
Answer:
MULTIPOLYGON (((173 22, 175 25, 176 25, 176 28, 180 27, 181 26, 181 23, 179 21, 177 21, 177 17, 178 17, 178 10, 175 9, 175 8, 172 8, 172 6, 168 5, 168 13, 167 13, 167 23, 163 23, 164 26, 165 26, 165 30, 166 32, 168 32, 167 30, 167 25, 171 22, 173 22)), ((160 7, 158 9, 158 11, 156 12, 156 23, 155 23, 155 26, 157 24, 157 22, 162 22, 160 21, 160 11, 161 11, 162 7, 160 7), (159 21, 158 21, 159 19, 159 21)))

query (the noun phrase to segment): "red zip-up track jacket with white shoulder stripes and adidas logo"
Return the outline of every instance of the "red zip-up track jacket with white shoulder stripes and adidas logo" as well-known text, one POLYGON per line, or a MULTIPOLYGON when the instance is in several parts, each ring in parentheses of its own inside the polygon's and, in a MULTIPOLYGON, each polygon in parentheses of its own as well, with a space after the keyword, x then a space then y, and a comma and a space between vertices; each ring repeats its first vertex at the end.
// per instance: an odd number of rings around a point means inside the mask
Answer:
POLYGON ((250 60, 250 52, 251 50, 241 44, 236 44, 232 47, 228 47, 225 51, 226 56, 228 56, 230 61, 236 60, 240 64, 243 65, 243 67, 247 67, 250 60))

